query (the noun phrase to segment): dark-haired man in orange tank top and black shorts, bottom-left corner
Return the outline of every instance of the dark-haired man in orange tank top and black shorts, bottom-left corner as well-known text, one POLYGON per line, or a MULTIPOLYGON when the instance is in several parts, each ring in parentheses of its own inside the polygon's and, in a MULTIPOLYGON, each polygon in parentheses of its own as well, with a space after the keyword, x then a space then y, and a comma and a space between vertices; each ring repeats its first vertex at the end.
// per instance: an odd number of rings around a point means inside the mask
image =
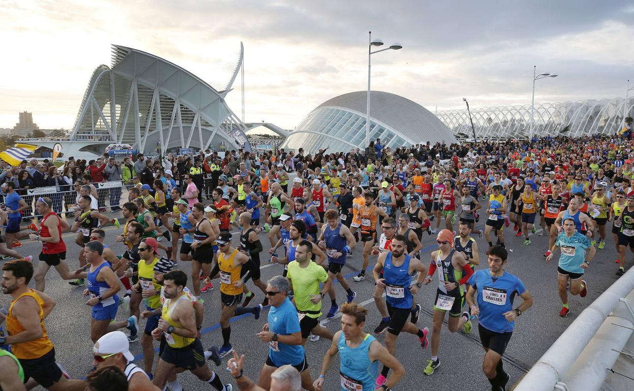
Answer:
POLYGON ((2 270, 2 292, 13 300, 8 314, 0 315, 8 333, 0 337, 0 345, 11 345, 11 352, 22 366, 24 381, 33 378, 50 391, 84 390, 84 381, 69 380, 55 362, 55 347, 46 333, 44 319, 56 303, 44 293, 29 289, 31 262, 11 260, 2 270))

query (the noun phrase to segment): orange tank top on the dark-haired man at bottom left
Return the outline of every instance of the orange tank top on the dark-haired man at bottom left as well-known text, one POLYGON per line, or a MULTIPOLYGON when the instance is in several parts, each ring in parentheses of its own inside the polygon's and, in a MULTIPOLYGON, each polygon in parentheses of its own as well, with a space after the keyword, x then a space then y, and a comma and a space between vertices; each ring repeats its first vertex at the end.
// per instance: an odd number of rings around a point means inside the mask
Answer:
POLYGON ((11 345, 11 351, 15 357, 18 359, 30 360, 37 359, 39 357, 44 356, 48 352, 53 349, 53 342, 48 339, 48 333, 46 333, 46 326, 44 326, 44 310, 42 309, 42 305, 44 305, 44 300, 42 300, 39 295, 37 295, 34 290, 29 289, 29 292, 24 292, 22 295, 18 296, 13 302, 11 302, 11 307, 9 307, 9 313, 6 316, 6 331, 9 335, 16 335, 18 333, 22 333, 25 328, 20 324, 20 321, 13 316, 13 305, 18 302, 23 297, 32 297, 37 302, 38 314, 37 316, 40 319, 40 326, 42 327, 42 337, 37 338, 36 340, 32 340, 29 342, 16 343, 15 345, 11 345))

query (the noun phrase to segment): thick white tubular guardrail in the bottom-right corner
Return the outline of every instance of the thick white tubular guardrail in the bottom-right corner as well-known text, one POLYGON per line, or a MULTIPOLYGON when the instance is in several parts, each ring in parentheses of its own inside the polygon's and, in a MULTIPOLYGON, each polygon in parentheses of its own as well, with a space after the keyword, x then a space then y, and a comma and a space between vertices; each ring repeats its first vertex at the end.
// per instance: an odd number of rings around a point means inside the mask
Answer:
MULTIPOLYGON (((515 391, 594 391, 602 388, 614 363, 633 337, 633 308, 634 268, 631 268, 579 314, 524 376, 515 391)), ((539 330, 534 332, 537 336, 539 330)), ((626 353, 626 356, 630 354, 626 353)))

